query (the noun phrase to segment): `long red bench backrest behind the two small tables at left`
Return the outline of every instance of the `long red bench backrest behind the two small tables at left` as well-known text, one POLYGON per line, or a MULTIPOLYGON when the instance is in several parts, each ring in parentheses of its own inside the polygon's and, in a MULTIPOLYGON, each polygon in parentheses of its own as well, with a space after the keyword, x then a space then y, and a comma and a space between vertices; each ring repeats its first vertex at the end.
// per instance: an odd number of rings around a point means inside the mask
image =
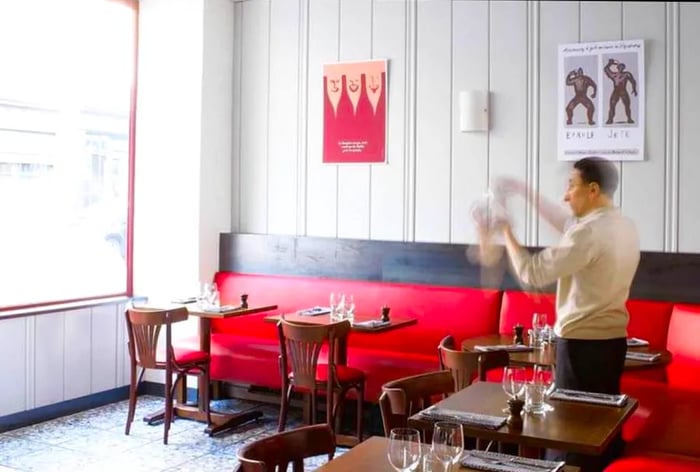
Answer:
MULTIPOLYGON (((315 305, 327 306, 331 292, 343 291, 354 295, 358 319, 379 318, 381 307, 388 305, 391 316, 418 320, 416 325, 393 331, 353 332, 348 341, 351 347, 383 346, 391 351, 437 356, 437 344, 445 335, 459 339, 485 335, 495 332, 498 324, 500 292, 497 290, 233 272, 219 272, 215 280, 224 304, 237 303, 245 292, 252 306, 277 304, 278 312, 291 313, 315 305)), ((214 320, 212 330, 276 336, 274 325, 265 326, 262 321, 267 315, 214 320), (268 334, 270 330, 273 334, 268 334)))

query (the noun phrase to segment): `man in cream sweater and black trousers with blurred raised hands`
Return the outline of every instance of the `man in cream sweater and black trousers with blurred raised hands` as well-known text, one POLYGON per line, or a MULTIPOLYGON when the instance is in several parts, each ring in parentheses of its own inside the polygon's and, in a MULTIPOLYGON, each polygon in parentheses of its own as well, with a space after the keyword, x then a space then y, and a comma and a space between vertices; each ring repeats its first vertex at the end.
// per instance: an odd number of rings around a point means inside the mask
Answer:
MULTIPOLYGON (((552 205, 544 205, 543 216, 563 235, 558 244, 535 254, 520 245, 506 220, 501 222, 517 278, 533 287, 557 282, 558 387, 620 393, 629 318, 625 302, 639 264, 639 237, 634 223, 613 205, 617 185, 617 171, 609 161, 597 157, 577 161, 564 194, 573 220, 565 222, 552 205)), ((507 181, 501 187, 509 187, 507 181)), ((519 189, 529 193, 524 186, 519 189)), ((617 438, 603 463, 619 454, 622 446, 617 438)), ((569 455, 567 462, 586 465, 590 458, 569 455)))

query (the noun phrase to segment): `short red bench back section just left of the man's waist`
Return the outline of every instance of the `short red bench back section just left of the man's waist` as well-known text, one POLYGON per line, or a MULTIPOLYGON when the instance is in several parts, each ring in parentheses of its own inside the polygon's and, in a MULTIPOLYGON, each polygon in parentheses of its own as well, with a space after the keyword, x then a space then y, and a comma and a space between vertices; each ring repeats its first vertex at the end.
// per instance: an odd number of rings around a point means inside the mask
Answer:
POLYGON ((546 313, 547 323, 554 325, 556 308, 553 293, 531 293, 508 290, 503 292, 498 332, 511 334, 513 326, 520 323, 525 329, 532 328, 532 314, 546 313))

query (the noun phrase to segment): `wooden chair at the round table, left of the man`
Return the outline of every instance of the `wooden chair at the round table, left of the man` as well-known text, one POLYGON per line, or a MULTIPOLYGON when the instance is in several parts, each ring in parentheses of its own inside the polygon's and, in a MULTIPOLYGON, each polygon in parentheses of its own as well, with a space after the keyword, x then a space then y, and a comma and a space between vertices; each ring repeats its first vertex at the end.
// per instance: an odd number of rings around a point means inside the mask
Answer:
POLYGON ((506 351, 461 351, 455 349, 452 336, 445 336, 438 344, 438 360, 440 369, 452 374, 455 391, 459 391, 471 385, 477 378, 485 381, 489 370, 507 366, 510 357, 506 351))

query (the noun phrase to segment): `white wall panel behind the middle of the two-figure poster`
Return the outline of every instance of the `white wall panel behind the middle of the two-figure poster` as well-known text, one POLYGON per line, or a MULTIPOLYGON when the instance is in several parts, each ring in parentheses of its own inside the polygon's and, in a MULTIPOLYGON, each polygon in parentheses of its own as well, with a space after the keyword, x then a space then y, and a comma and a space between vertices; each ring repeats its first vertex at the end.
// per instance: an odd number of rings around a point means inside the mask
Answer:
MULTIPOLYGON (((622 39, 622 2, 581 2, 581 42, 622 39)), ((602 90, 602 89, 601 89, 602 90)), ((622 166, 615 164, 620 173, 620 187, 624 175, 622 166)), ((615 204, 621 204, 620 191, 615 192, 615 204)), ((621 208, 625 213, 625 209, 621 208)))

